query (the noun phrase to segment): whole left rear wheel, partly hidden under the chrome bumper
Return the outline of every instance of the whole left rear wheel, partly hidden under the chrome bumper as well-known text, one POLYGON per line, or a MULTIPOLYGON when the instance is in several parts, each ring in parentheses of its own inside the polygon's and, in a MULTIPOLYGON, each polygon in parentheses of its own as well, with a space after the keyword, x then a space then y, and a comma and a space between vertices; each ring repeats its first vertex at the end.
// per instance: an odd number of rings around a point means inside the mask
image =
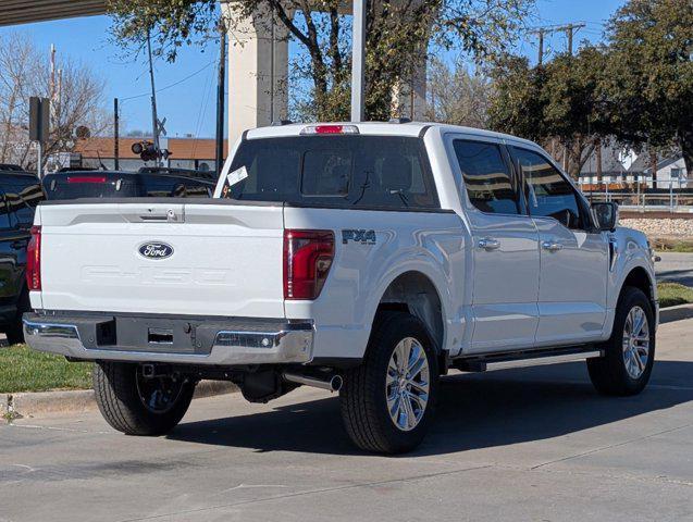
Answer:
POLYGON ((99 362, 94 390, 101 414, 127 435, 164 435, 173 430, 193 400, 195 383, 175 375, 145 377, 138 364, 99 362))

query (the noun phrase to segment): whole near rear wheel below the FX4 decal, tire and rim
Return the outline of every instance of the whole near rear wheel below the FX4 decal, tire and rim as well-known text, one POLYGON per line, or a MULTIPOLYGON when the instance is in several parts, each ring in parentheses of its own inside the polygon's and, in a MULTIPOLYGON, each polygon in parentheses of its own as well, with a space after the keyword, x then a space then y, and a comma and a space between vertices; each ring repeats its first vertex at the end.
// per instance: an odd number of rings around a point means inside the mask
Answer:
POLYGON ((367 451, 401 453, 428 431, 437 395, 437 361, 424 325, 403 312, 378 318, 363 363, 344 374, 342 418, 367 451))

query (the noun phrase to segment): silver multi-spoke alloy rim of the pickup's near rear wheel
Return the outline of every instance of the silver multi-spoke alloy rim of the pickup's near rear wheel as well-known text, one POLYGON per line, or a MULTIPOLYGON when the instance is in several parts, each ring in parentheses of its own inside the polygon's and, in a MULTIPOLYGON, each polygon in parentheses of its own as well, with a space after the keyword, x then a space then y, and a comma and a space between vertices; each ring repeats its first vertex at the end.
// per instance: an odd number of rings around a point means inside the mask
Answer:
POLYGON ((413 337, 405 337, 389 358, 385 381, 387 410, 398 430, 417 427, 429 403, 430 385, 425 350, 413 337))

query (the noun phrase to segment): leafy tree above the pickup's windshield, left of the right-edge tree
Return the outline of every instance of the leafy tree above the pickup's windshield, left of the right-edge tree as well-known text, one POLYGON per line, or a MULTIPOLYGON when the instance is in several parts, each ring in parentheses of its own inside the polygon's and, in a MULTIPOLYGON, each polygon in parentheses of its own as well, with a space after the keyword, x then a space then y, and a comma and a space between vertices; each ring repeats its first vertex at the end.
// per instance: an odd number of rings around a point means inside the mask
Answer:
POLYGON ((577 178, 607 128, 598 89, 605 60, 604 50, 593 46, 535 67, 508 57, 493 72, 492 128, 540 142, 557 140, 566 170, 577 178))

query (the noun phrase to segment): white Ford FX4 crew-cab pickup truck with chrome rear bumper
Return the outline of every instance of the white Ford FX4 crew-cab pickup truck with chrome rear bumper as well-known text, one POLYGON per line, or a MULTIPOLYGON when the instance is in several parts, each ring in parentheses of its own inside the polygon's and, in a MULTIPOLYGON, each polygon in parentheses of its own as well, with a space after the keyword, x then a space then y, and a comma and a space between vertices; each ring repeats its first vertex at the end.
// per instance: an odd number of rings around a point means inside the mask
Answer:
POLYGON ((421 123, 246 132, 209 200, 38 207, 25 336, 96 362, 107 421, 171 431, 201 378, 265 402, 339 390, 361 448, 414 448, 438 376, 586 359, 646 385, 658 304, 643 234, 537 145, 421 123), (523 362, 527 364, 527 362, 523 362))

